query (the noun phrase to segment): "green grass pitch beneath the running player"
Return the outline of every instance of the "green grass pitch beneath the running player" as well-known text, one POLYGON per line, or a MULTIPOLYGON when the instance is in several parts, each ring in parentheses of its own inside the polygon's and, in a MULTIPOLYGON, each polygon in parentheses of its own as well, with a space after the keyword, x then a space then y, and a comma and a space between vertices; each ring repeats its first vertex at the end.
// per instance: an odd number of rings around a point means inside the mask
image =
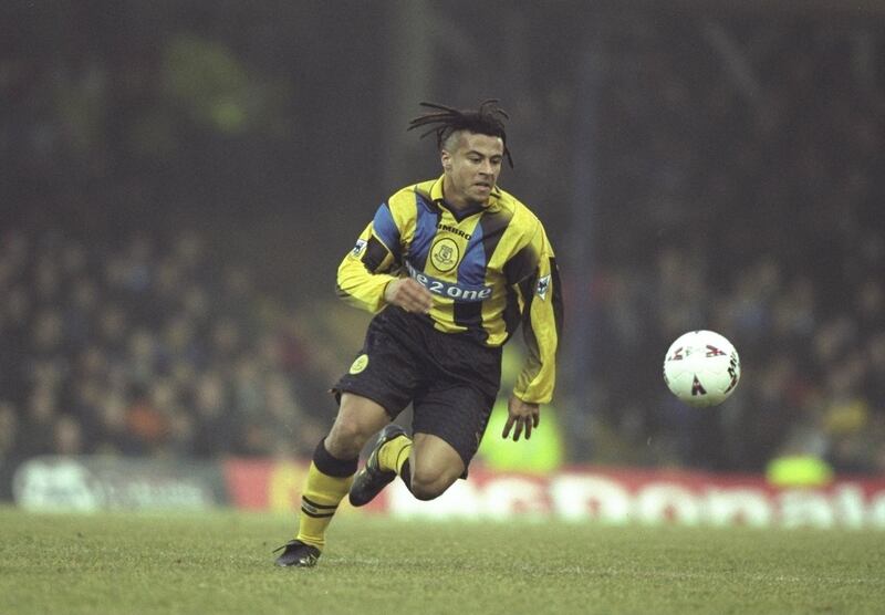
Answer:
POLYGON ((885 532, 0 509, 0 613, 883 613, 885 532))

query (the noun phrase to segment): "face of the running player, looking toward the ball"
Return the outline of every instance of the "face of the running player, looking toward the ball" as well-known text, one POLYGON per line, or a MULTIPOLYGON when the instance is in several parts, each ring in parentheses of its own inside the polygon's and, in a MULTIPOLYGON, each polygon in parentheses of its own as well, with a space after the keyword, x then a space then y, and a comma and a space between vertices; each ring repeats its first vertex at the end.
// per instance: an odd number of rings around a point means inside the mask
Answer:
POLYGON ((454 147, 444 148, 441 155, 446 200, 454 207, 485 204, 501 173, 503 140, 464 131, 450 143, 454 147))

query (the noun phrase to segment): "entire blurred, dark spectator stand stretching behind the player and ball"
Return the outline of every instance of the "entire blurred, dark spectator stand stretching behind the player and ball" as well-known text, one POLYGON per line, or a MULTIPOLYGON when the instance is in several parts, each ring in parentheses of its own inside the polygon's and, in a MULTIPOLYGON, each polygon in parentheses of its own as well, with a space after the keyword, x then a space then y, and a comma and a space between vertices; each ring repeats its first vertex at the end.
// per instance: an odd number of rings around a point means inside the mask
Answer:
MULTIPOLYGON (((388 94, 493 95, 513 116, 503 185, 563 268, 568 459, 757 472, 801 454, 885 472, 885 22, 646 2, 574 19, 584 4, 421 3, 451 38, 415 46, 430 92, 388 94), (587 365, 570 361, 581 324, 587 365), (695 329, 741 355, 719 408, 679 404, 662 378, 695 329)), ((18 49, 0 58, 0 207, 14 204, 0 225, 0 461, 304 457, 331 423, 325 388, 364 326, 329 308, 335 250, 398 187, 366 153, 405 125, 364 96, 403 59, 361 20, 402 34, 398 4, 353 3, 353 23, 299 3, 200 7, 0 23, 18 49), (48 35, 58 52, 32 44, 48 35)), ((428 159, 409 156, 408 178, 428 159)))

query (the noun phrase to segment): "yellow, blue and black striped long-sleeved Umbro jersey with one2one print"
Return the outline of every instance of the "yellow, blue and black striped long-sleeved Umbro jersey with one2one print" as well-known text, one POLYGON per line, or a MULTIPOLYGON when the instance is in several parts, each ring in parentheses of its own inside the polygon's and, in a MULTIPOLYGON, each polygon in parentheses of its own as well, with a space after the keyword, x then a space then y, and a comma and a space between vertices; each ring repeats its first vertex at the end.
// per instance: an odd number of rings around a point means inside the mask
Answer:
POLYGON ((528 207, 496 188, 485 206, 454 210, 442 177, 403 188, 342 261, 337 292, 378 312, 387 284, 407 275, 433 293, 429 317, 438 331, 500 346, 522 323, 528 359, 514 394, 550 402, 562 295, 553 248, 528 207))

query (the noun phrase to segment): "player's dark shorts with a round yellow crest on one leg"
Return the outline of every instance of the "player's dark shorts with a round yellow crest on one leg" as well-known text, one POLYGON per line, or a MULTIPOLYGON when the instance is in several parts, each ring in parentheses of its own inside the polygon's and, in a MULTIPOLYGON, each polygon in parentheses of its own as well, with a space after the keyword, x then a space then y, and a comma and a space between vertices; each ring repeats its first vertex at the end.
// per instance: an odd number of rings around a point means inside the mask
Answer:
POLYGON ((451 445, 465 468, 479 448, 501 386, 501 348, 441 333, 427 316, 388 305, 368 325, 363 348, 333 387, 376 402, 395 419, 409 403, 412 430, 451 445))

